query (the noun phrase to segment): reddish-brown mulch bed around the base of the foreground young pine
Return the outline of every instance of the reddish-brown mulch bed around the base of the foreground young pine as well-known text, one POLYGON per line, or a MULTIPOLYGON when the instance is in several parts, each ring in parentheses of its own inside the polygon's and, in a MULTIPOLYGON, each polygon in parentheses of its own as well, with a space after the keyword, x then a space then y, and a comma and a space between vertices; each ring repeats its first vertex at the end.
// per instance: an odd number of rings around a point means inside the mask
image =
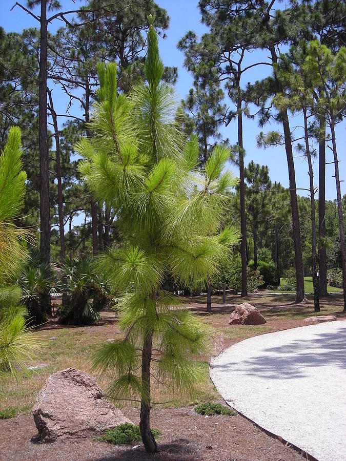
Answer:
MULTIPOLYGON (((138 424, 139 413, 128 408, 126 416, 138 424)), ((38 444, 32 416, 0 420, 0 459, 55 460, 302 460, 290 446, 267 435, 242 416, 205 417, 193 407, 153 409, 151 426, 159 429, 159 452, 148 455, 142 444, 117 447, 92 438, 38 444), (139 445, 139 446, 138 446, 139 445), (135 446, 136 448, 132 448, 135 446)))

